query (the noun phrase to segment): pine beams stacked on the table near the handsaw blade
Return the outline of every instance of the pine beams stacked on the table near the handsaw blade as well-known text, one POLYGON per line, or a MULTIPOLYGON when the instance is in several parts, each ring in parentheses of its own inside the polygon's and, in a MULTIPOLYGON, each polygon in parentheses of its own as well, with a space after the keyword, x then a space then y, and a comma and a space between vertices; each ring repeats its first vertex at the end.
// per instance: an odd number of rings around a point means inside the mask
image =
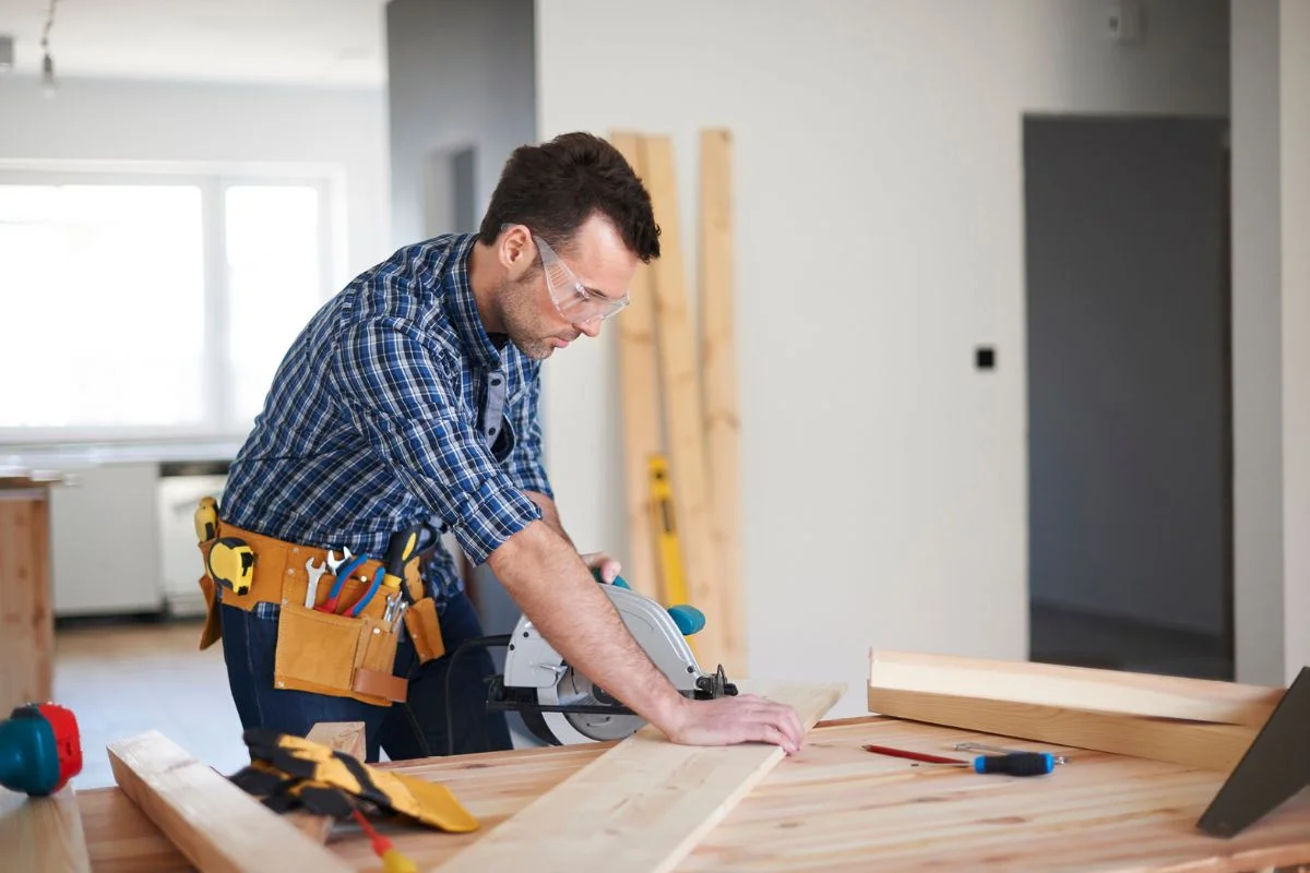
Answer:
POLYGON ((870 712, 1222 772, 1237 766, 1281 694, 1117 670, 870 652, 870 712))

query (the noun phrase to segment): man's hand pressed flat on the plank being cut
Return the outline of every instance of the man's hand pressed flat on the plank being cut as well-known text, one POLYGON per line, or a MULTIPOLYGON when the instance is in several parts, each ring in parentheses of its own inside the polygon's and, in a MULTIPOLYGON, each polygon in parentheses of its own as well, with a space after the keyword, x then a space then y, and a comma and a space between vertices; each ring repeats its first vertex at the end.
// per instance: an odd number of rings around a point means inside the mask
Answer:
POLYGON ((681 717, 664 729, 673 742, 688 746, 723 746, 768 742, 794 755, 806 730, 794 707, 743 694, 715 700, 688 700, 681 717))

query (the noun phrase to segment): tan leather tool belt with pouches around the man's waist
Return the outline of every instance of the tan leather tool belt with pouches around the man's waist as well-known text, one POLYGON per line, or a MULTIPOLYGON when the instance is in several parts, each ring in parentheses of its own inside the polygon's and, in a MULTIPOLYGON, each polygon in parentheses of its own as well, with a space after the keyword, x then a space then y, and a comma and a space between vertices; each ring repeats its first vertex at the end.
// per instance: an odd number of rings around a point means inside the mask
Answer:
MULTIPOLYGON (((202 650, 223 635, 220 605, 250 611, 257 603, 275 603, 279 606, 272 677, 276 687, 354 698, 379 707, 389 707, 406 698, 407 681, 393 674, 402 623, 421 664, 445 653, 436 602, 427 596, 421 577, 421 555, 405 564, 403 593, 379 586, 358 615, 348 615, 369 590, 363 579, 372 581, 383 571, 381 560, 371 558, 355 568, 342 584, 335 611, 324 611, 305 605, 309 589, 307 563, 312 561, 316 568, 325 567, 328 550, 242 530, 221 518, 215 527, 215 535, 199 543, 204 559, 199 585, 206 603, 202 650), (240 541, 254 554, 249 590, 237 593, 212 579, 210 550, 220 539, 224 543, 240 541), (385 620, 388 594, 403 599, 407 609, 398 618, 393 615, 385 620)), ((345 564, 342 568, 346 568, 345 564)), ((326 603, 335 581, 330 569, 320 576, 316 606, 326 603)))

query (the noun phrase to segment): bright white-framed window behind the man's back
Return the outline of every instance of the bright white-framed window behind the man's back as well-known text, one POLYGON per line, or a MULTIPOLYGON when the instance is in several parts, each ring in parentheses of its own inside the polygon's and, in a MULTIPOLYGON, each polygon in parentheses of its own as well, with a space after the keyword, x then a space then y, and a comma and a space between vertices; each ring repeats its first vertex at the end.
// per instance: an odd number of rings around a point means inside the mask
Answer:
POLYGON ((335 291, 326 191, 0 173, 0 441, 244 435, 335 291))

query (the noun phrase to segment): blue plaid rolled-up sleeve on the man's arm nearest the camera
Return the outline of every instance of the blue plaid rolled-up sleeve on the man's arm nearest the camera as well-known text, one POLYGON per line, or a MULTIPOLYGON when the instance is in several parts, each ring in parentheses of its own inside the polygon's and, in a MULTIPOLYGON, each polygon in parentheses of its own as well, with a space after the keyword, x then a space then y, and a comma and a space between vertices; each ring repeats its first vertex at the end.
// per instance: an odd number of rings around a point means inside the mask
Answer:
POLYGON ((351 325, 329 370, 360 433, 474 564, 541 518, 458 415, 440 352, 411 322, 377 317, 351 325))

